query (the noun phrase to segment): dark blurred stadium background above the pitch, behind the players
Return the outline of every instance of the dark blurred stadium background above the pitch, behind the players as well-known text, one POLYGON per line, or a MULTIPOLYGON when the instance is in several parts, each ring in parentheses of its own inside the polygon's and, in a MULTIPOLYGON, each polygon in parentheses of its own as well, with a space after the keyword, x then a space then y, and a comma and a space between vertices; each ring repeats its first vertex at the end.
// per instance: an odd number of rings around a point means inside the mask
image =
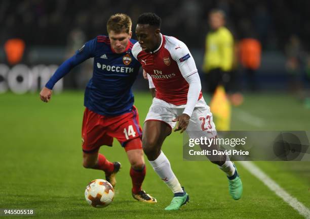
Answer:
MULTIPOLYGON (((310 78, 310 18, 308 1, 1 1, 0 3, 0 63, 8 63, 4 44, 20 38, 25 43, 19 63, 29 68, 37 65, 59 65, 85 41, 107 34, 106 21, 114 13, 127 13, 135 21, 143 12, 155 12, 163 19, 162 32, 176 36, 190 48, 202 73, 208 12, 219 8, 226 13, 227 27, 236 45, 249 35, 262 45, 261 65, 256 82, 261 90, 300 91, 309 87, 310 78)), ((135 35, 133 34, 133 38, 135 35)), ((236 48, 237 50, 237 48, 236 48)), ((238 52, 238 51, 236 51, 238 52)), ((237 54, 237 53, 236 53, 237 54)), ((245 90, 242 65, 235 60, 238 90, 245 90)), ((14 63, 16 64, 16 63, 14 63)), ((42 66, 41 66, 42 67, 42 66)), ((65 88, 83 89, 91 74, 90 65, 75 69, 64 80, 65 88)), ((5 67, 1 67, 5 72, 5 67)), ((35 71, 35 70, 34 70, 35 71)), ((4 75, 2 73, 1 75, 4 75)), ((0 77, 1 77, 0 75, 0 77)), ((203 78, 203 74, 201 77, 203 78)), ((4 90, 0 78, 0 92, 4 90)), ((204 82, 204 80, 202 80, 204 82)), ((136 89, 146 90, 140 77, 136 89)))

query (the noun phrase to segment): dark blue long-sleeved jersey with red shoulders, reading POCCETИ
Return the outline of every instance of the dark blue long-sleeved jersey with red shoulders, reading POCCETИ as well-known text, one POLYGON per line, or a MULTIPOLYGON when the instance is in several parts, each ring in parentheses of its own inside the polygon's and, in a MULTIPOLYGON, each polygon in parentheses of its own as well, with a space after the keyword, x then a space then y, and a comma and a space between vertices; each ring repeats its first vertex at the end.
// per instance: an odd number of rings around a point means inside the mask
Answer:
POLYGON ((99 35, 86 42, 73 57, 65 61, 46 84, 54 84, 74 66, 94 58, 93 77, 87 84, 84 105, 104 116, 117 116, 131 112, 134 103, 132 85, 138 75, 140 63, 132 56, 136 40, 130 39, 124 53, 115 53, 107 36, 99 35))

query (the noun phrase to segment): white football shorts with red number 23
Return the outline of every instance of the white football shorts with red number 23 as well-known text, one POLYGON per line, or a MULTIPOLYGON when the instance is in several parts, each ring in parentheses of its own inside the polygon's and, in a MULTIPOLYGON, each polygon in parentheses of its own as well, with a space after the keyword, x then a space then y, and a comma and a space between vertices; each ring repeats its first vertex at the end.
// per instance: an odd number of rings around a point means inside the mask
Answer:
MULTIPOLYGON (((149 120, 162 121, 167 123, 172 130, 176 125, 176 122, 172 122, 172 120, 181 115, 184 108, 185 105, 174 105, 154 97, 144 122, 149 120)), ((216 136, 212 113, 203 97, 196 103, 186 132, 190 138, 213 138, 216 136)))

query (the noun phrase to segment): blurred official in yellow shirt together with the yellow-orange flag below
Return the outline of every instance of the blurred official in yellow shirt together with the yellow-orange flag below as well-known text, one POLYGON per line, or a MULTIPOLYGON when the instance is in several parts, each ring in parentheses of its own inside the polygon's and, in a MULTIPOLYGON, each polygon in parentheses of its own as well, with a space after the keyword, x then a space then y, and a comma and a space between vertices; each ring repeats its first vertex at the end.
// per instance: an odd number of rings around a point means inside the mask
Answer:
POLYGON ((224 27, 225 14, 214 9, 209 13, 211 30, 206 36, 206 50, 203 71, 206 73, 208 92, 212 95, 210 108, 217 130, 230 129, 230 104, 222 85, 230 79, 234 54, 234 39, 224 27))

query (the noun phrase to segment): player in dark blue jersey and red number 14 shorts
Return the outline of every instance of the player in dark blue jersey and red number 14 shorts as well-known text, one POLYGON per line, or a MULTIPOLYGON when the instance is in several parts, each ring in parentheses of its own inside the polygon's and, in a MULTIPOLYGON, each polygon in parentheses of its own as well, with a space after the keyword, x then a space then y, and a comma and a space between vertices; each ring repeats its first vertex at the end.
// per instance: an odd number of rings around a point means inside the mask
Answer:
POLYGON ((104 171, 106 180, 114 187, 115 174, 120 170, 121 163, 108 161, 98 151, 102 145, 112 146, 113 138, 117 138, 131 164, 132 196, 139 201, 156 203, 156 199, 141 188, 146 170, 139 115, 133 105, 131 90, 141 65, 130 52, 136 42, 131 39, 131 26, 129 16, 112 15, 107 22, 109 36, 99 35, 86 42, 57 69, 42 89, 40 97, 48 102, 59 79, 74 66, 94 58, 93 77, 86 87, 84 98, 83 166, 104 171))

